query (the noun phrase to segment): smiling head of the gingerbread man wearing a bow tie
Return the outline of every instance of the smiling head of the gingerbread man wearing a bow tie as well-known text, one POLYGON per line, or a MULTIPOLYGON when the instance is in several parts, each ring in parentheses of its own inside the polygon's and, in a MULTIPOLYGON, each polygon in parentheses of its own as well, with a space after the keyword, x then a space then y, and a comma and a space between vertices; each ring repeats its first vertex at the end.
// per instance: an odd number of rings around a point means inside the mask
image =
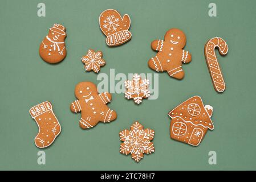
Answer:
POLYGON ((75 96, 79 100, 83 100, 97 94, 97 88, 91 82, 80 82, 76 85, 75 90, 75 96))

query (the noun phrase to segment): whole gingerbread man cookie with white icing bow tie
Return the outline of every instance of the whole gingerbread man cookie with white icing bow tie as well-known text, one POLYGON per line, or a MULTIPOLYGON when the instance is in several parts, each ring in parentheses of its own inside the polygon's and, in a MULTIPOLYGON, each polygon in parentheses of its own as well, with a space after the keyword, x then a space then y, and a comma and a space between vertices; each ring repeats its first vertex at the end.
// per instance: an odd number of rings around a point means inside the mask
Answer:
POLYGON ((70 105, 73 113, 81 112, 79 121, 82 129, 90 129, 98 122, 111 122, 116 119, 116 112, 106 105, 111 101, 111 94, 99 94, 97 87, 92 82, 79 82, 75 87, 75 96, 78 100, 70 105))

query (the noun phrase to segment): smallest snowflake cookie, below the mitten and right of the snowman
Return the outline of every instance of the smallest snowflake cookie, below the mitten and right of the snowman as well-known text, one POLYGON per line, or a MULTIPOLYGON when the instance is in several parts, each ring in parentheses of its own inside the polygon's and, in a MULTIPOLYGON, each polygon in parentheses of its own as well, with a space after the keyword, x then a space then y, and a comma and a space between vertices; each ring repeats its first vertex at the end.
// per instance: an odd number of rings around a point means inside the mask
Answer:
POLYGON ((105 65, 105 60, 101 57, 101 51, 95 52, 94 50, 89 49, 87 55, 82 57, 82 62, 85 64, 84 69, 86 69, 87 72, 93 70, 95 73, 98 73, 100 67, 105 65))

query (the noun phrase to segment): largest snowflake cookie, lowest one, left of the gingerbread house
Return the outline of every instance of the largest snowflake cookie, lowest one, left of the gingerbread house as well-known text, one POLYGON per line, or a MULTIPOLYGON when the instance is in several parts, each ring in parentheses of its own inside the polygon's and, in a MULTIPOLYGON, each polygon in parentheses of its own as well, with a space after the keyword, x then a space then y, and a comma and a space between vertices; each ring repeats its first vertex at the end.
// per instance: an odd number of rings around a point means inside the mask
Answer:
POLYGON ((144 129, 139 123, 135 122, 130 128, 130 131, 125 129, 119 133, 121 154, 131 154, 132 159, 139 162, 144 154, 155 152, 154 144, 151 142, 155 136, 155 131, 144 129))

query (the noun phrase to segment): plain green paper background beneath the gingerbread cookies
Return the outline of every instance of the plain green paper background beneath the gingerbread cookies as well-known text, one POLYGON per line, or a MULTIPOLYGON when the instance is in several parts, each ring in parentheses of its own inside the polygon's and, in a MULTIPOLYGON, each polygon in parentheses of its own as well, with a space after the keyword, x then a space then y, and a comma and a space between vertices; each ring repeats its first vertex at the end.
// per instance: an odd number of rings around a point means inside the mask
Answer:
MULTIPOLYGON (((1 1, 0 2, 0 169, 82 170, 173 170, 256 169, 255 30, 256 1, 1 1), (46 17, 37 16, 39 2, 46 4, 46 17), (217 4, 217 17, 208 16, 210 2, 217 4), (109 48, 99 28, 99 15, 116 9, 131 17, 132 40, 109 48), (67 28, 67 57, 50 65, 40 59, 38 48, 54 23, 67 28), (156 73, 147 61, 156 53, 152 40, 164 38, 169 28, 183 30, 185 49, 192 62, 183 65, 183 80, 159 73, 159 98, 139 106, 112 94, 109 107, 116 121, 99 123, 94 129, 79 127, 80 114, 71 113, 74 88, 80 81, 96 84, 96 74, 85 72, 80 58, 88 48, 103 51, 107 61, 100 73, 156 73), (226 90, 218 94, 205 62, 208 39, 220 36, 229 46, 220 56, 226 90), (214 130, 200 146, 176 142, 169 137, 167 113, 189 97, 198 95, 213 106, 214 130), (46 152, 46 165, 38 165, 34 144, 38 126, 30 117, 31 106, 51 101, 62 133, 46 152), (156 132, 156 151, 140 163, 119 154, 119 131, 134 121, 156 132), (208 164, 208 152, 217 152, 217 165, 208 164)), ((107 91, 107 90, 106 90, 107 91)))

